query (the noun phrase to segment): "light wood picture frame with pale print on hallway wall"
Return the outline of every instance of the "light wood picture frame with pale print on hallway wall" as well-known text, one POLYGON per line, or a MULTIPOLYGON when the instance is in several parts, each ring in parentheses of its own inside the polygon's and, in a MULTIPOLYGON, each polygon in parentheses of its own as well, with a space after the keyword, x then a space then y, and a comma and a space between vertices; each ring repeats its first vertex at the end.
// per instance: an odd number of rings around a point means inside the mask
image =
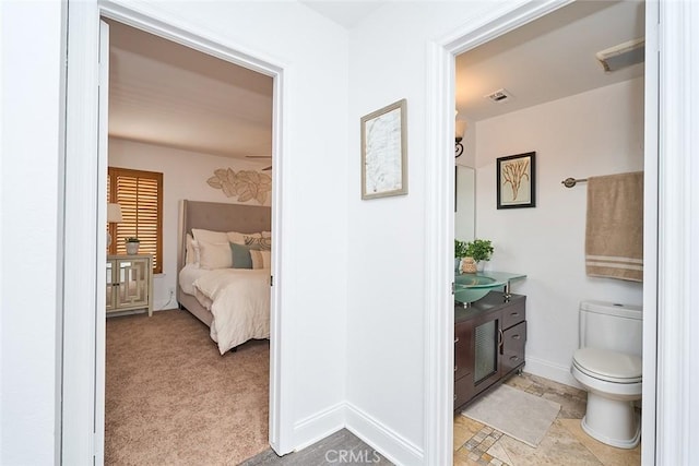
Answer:
POLYGON ((407 101, 362 117, 362 199, 407 194, 407 101))

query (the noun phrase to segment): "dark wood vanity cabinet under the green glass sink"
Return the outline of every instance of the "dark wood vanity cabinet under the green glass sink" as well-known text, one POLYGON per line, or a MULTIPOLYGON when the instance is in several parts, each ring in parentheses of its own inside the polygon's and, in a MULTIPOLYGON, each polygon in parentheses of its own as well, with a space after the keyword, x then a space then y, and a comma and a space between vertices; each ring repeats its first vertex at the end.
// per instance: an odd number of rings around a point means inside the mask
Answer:
POLYGON ((524 366, 525 299, 490 291, 469 308, 454 304, 454 410, 524 366))

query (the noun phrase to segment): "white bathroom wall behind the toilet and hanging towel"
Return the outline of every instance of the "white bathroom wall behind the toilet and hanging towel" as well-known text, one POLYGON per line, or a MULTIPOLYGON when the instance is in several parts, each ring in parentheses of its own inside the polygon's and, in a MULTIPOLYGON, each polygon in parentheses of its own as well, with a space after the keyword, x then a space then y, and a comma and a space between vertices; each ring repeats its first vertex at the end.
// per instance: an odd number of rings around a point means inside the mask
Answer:
POLYGON ((642 303, 642 284, 585 276, 588 178, 643 169, 643 79, 479 121, 476 236, 491 239, 488 267, 524 273, 525 371, 562 383, 578 345, 581 300, 642 303), (506 134, 507 136, 503 136, 506 134), (496 208, 496 158, 536 152, 536 207, 496 208))

